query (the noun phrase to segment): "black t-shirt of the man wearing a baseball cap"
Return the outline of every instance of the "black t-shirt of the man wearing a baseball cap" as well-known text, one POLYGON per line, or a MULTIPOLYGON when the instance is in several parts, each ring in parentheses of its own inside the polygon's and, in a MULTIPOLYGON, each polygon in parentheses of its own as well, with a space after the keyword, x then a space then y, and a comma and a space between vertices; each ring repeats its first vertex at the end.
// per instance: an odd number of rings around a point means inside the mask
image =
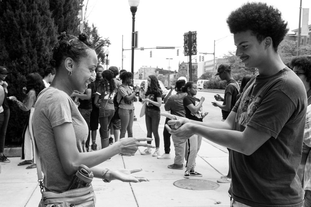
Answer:
POLYGON ((230 105, 230 111, 225 111, 225 110, 221 110, 221 113, 222 113, 222 119, 227 119, 227 117, 229 116, 231 110, 233 109, 237 99, 236 99, 236 96, 239 94, 239 89, 238 89, 238 85, 239 83, 237 83, 234 79, 230 79, 226 85, 226 88, 225 88, 225 101, 224 103, 222 104, 223 106, 226 105, 226 96, 227 96, 227 93, 230 93, 231 94, 231 105, 230 105))

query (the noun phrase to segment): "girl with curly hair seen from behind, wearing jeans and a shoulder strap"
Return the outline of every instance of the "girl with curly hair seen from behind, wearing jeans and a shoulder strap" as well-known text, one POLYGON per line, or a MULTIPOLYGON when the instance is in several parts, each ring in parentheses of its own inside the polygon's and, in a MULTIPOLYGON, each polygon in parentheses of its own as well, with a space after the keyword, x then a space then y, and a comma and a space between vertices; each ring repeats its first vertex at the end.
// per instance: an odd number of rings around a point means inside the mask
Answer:
MULTIPOLYGON (((96 90, 94 104, 100 104, 99 108, 99 122, 100 122, 100 140, 101 148, 109 146, 108 125, 114 116, 114 90, 116 88, 114 83, 114 73, 111 70, 104 70, 103 79, 98 83, 96 90), (101 102, 98 103, 98 100, 101 102)), ((111 159, 109 159, 111 160, 111 159)))

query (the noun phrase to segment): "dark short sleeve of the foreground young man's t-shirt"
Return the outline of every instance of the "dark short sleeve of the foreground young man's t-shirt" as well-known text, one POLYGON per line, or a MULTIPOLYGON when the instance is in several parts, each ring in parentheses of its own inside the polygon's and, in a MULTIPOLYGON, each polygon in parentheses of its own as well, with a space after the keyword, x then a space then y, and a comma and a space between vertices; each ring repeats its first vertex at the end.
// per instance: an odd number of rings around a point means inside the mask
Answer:
POLYGON ((296 109, 294 103, 281 90, 272 90, 258 106, 255 106, 255 104, 252 106, 255 112, 249 112, 249 115, 251 113, 253 115, 251 115, 247 125, 268 133, 274 138, 278 136, 296 109))

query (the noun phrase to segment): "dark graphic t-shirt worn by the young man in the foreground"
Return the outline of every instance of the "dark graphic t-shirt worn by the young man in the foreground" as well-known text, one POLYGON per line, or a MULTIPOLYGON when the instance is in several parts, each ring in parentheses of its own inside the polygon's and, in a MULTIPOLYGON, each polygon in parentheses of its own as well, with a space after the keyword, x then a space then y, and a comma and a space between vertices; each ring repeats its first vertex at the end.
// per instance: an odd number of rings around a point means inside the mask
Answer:
MULTIPOLYGON (((246 126, 271 136, 253 154, 232 150, 229 194, 254 207, 302 206, 303 191, 296 174, 302 152, 307 95, 289 68, 267 77, 253 77, 232 111, 234 130, 246 126)), ((251 138, 251 137, 250 137, 251 138)))

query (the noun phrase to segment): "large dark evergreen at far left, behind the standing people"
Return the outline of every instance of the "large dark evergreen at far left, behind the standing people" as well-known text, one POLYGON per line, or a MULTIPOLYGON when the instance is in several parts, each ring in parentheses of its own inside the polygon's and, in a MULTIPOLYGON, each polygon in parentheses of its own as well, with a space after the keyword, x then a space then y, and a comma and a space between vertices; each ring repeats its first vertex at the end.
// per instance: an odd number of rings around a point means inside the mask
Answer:
MULTIPOLYGON (((22 88, 26 75, 43 74, 49 65, 51 48, 56 41, 56 29, 49 2, 44 0, 0 1, 0 63, 11 72, 8 95, 23 100, 22 88)), ((28 112, 9 102, 11 113, 7 140, 21 141, 28 112)))

